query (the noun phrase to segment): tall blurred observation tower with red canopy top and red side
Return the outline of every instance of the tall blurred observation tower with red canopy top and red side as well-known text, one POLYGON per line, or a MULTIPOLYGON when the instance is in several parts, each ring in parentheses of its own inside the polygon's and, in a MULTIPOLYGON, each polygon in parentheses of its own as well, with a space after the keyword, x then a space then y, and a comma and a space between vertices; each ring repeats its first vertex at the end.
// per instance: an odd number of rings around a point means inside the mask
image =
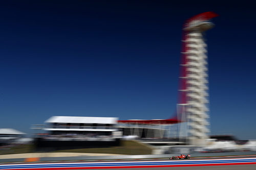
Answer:
POLYGON ((182 61, 177 106, 178 119, 187 123, 191 145, 204 145, 208 139, 208 73, 205 31, 214 24, 214 12, 204 12, 188 19, 183 27, 182 61))

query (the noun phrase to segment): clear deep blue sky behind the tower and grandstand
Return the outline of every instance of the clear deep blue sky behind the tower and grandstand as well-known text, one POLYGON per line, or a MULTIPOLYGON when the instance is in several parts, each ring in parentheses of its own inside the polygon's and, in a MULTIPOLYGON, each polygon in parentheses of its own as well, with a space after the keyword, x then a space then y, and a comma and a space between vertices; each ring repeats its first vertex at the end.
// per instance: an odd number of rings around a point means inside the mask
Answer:
POLYGON ((206 34, 211 134, 256 139, 253 4, 6 1, 0 5, 0 128, 31 133, 31 125, 53 115, 172 116, 183 22, 214 11, 220 16, 206 34))

